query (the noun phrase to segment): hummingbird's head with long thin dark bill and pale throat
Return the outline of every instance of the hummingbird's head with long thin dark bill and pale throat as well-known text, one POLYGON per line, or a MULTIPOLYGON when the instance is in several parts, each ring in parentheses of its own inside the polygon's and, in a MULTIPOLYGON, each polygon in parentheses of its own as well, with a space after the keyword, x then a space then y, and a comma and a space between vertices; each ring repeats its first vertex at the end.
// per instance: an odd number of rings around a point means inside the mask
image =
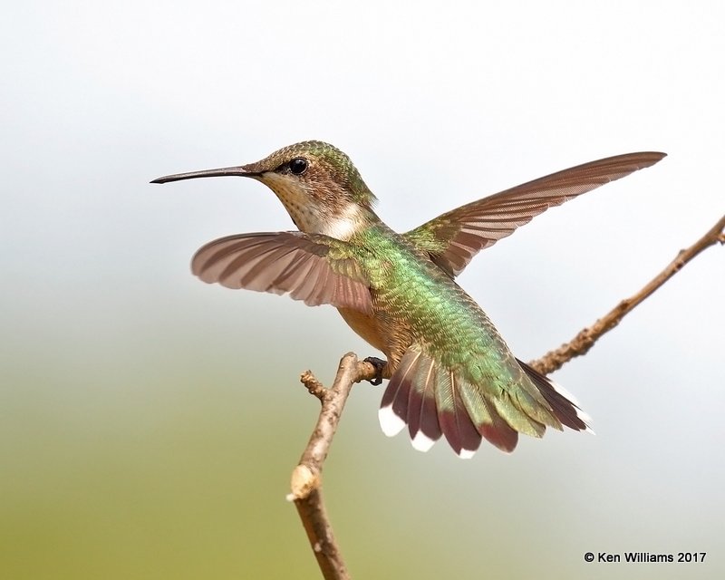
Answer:
POLYGON ((309 234, 348 239, 373 215, 375 196, 353 162, 323 141, 295 143, 239 167, 179 173, 151 183, 226 175, 264 183, 282 201, 295 226, 309 234))

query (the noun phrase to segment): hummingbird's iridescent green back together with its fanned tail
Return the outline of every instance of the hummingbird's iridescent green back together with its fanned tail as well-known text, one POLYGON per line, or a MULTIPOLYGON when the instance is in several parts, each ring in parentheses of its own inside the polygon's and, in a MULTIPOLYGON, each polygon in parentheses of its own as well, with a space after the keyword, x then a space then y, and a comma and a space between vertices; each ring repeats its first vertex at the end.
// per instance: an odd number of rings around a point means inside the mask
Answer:
POLYGON ((388 329, 381 348, 395 371, 382 402, 387 432, 396 427, 388 407, 408 424, 417 447, 442 432, 462 455, 478 449, 481 436, 510 450, 515 431, 540 437, 546 426, 561 429, 488 316, 424 252, 382 224, 349 244, 368 277, 373 318, 388 329), (423 408, 426 398, 435 401, 438 427, 433 417, 421 417, 433 414, 432 405, 423 408))

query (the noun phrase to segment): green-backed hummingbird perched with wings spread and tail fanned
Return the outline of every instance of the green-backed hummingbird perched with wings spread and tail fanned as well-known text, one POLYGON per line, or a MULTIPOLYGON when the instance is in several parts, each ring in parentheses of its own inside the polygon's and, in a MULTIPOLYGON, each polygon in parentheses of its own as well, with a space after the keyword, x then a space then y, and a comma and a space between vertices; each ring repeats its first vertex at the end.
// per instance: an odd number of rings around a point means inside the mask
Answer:
POLYGON ((350 158, 309 140, 247 165, 169 175, 151 183, 239 176, 264 183, 298 231, 237 234, 201 247, 191 270, 228 288, 332 304, 362 339, 385 354, 388 379, 378 417, 392 437, 407 425, 413 448, 443 436, 468 459, 483 439, 513 451, 518 433, 590 430, 588 416, 556 382, 519 361, 488 315, 456 283, 478 252, 604 183, 652 166, 664 153, 591 161, 528 181, 433 218, 404 234, 377 216, 350 158))

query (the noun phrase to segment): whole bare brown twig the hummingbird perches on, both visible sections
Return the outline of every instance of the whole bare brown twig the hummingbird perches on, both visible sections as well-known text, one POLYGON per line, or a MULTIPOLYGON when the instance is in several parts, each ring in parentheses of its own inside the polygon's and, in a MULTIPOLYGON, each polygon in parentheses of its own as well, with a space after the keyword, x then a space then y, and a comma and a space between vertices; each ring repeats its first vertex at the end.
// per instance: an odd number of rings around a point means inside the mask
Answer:
MULTIPOLYGON (((565 362, 575 356, 585 354, 604 333, 619 324, 626 314, 652 295, 682 266, 705 248, 717 243, 725 244, 725 216, 691 247, 681 250, 672 263, 637 294, 617 304, 610 313, 578 333, 570 343, 563 344, 529 364, 538 372, 547 374, 561 368, 565 362)), ((340 367, 330 389, 325 389, 322 383, 314 378, 312 372, 304 372, 301 377, 307 390, 321 401, 322 410, 307 448, 304 449, 299 464, 292 472, 292 492, 287 498, 295 502, 325 580, 347 580, 350 575, 347 573, 340 547, 333 536, 332 524, 324 508, 321 478, 324 459, 333 442, 334 432, 353 383, 370 380, 374 376, 375 369, 372 364, 358 362, 354 353, 347 353, 340 361, 340 367)))

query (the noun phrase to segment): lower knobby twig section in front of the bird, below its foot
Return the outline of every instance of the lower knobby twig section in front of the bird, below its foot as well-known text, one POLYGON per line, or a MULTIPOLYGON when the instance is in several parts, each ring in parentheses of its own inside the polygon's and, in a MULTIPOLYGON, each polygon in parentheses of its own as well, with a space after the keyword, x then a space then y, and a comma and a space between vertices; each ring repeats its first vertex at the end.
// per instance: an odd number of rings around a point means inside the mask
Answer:
POLYGON ((358 362, 354 353, 347 353, 340 361, 333 386, 325 389, 312 372, 304 372, 300 381, 322 403, 320 416, 312 436, 292 472, 292 491, 287 499, 295 502, 307 537, 310 540, 317 565, 325 580, 348 579, 350 575, 343 562, 340 547, 333 536, 333 527, 324 508, 322 496, 322 470, 324 459, 333 442, 337 423, 343 413, 347 396, 354 382, 372 379, 375 369, 369 362, 358 362))

